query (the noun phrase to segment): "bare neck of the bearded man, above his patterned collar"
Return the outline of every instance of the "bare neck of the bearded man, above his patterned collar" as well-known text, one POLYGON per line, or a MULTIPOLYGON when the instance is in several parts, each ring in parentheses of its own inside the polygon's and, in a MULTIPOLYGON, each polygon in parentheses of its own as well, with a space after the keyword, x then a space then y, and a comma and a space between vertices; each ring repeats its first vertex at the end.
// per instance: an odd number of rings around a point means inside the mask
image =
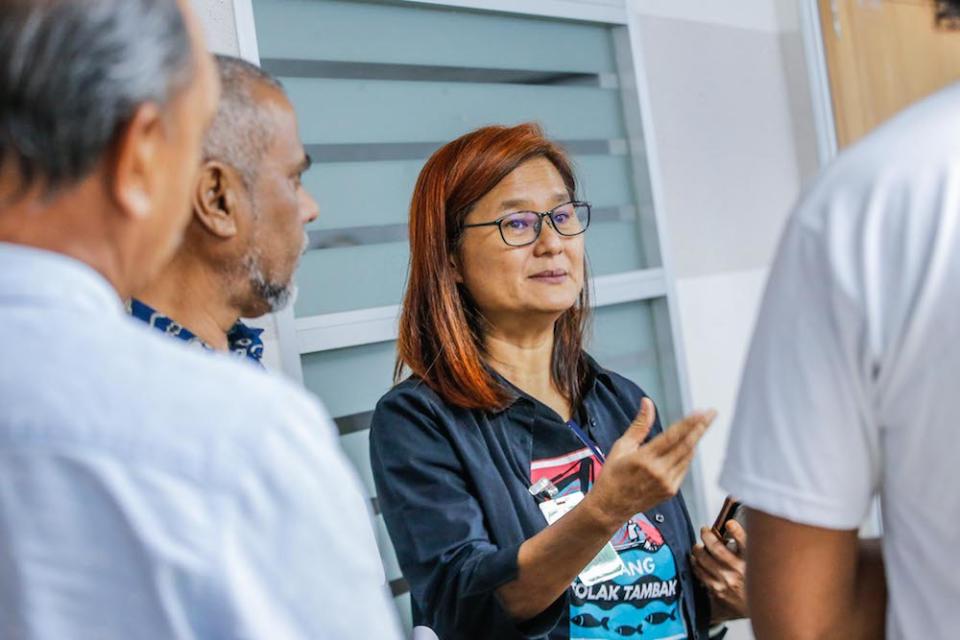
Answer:
POLYGON ((218 351, 229 348, 227 334, 240 317, 223 277, 183 252, 146 290, 134 297, 188 329, 218 351))

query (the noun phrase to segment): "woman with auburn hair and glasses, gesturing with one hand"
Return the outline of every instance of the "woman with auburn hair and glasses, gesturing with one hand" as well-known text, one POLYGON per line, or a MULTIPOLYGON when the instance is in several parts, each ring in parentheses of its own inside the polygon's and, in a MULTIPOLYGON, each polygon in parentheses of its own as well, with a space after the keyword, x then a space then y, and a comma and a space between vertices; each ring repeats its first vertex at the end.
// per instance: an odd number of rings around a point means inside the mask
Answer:
POLYGON ((589 224, 533 124, 458 138, 417 180, 410 375, 377 405, 370 456, 414 622, 442 640, 707 638, 745 613, 743 529, 736 552, 709 529, 694 545, 678 493, 713 412, 661 431, 583 351, 589 224))

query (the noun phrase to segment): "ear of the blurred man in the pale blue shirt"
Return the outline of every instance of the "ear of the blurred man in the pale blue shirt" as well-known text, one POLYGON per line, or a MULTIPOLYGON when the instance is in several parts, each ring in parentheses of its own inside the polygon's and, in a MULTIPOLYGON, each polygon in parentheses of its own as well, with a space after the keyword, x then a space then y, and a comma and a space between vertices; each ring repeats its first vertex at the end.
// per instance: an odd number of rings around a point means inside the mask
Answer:
POLYGON ((163 162, 164 126, 159 107, 142 104, 114 147, 108 189, 117 208, 128 217, 148 218, 156 208, 157 180, 163 174, 158 164, 163 162))

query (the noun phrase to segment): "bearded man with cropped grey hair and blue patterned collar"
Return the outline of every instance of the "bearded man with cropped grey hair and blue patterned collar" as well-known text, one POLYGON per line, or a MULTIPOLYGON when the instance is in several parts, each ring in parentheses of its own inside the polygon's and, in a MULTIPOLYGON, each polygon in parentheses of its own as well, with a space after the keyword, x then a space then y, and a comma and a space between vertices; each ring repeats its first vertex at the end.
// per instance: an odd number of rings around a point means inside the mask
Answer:
POLYGON ((206 349, 260 364, 260 329, 240 318, 283 308, 317 203, 293 105, 280 83, 238 58, 217 56, 223 97, 203 145, 193 216, 180 250, 131 314, 206 349))

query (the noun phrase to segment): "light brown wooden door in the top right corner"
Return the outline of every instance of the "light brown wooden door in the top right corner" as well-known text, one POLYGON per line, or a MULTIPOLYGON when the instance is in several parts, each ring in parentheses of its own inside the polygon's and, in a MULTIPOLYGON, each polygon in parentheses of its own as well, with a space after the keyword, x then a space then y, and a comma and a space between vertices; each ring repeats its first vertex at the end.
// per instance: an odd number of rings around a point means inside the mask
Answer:
POLYGON ((960 31, 933 0, 818 0, 837 146, 960 80, 960 31))

